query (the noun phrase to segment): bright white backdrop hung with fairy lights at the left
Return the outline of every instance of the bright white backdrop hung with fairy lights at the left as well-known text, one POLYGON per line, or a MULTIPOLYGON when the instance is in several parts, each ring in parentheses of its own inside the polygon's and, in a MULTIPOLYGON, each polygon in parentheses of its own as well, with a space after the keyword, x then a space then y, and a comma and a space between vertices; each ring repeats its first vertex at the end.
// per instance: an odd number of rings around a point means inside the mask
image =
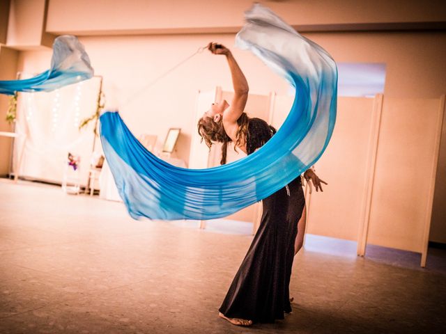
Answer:
MULTIPOLYGON (((91 84, 79 81, 51 93, 30 91, 18 95, 21 101, 19 113, 23 118, 18 118, 16 131, 27 136, 23 167, 26 173, 52 180, 53 176, 49 177, 45 174, 47 172, 34 169, 33 162, 45 161, 49 168, 59 170, 59 164, 63 161, 63 178, 59 180, 59 176, 54 176, 54 180, 78 184, 80 179, 77 179, 85 176, 85 173, 81 174, 80 157, 91 155, 92 134, 90 131, 80 131, 79 125, 85 114, 93 110, 95 97, 91 89, 86 88, 91 88, 91 84), (67 154, 71 158, 67 158, 67 154)), ((88 165, 88 159, 83 161, 87 161, 88 165)))

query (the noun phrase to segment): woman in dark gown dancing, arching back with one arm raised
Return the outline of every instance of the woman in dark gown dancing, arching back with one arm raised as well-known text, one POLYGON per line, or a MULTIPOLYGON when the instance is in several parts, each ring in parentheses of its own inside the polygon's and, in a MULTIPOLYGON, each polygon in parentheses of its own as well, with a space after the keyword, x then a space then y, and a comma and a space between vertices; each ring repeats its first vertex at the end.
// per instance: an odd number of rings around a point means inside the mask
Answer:
MULTIPOLYGON (((198 132, 206 145, 222 143, 221 164, 226 164, 227 145, 252 154, 276 132, 267 122, 249 118, 244 112, 249 87, 231 51, 217 43, 209 43, 209 51, 224 55, 231 70, 234 96, 213 103, 198 122, 198 132)), ((320 180, 313 170, 304 173, 316 191, 320 180)), ((302 247, 305 234, 305 198, 300 176, 284 188, 263 199, 263 214, 251 246, 229 287, 220 307, 220 317, 239 326, 254 322, 274 322, 291 312, 289 283, 294 255, 302 247)))

